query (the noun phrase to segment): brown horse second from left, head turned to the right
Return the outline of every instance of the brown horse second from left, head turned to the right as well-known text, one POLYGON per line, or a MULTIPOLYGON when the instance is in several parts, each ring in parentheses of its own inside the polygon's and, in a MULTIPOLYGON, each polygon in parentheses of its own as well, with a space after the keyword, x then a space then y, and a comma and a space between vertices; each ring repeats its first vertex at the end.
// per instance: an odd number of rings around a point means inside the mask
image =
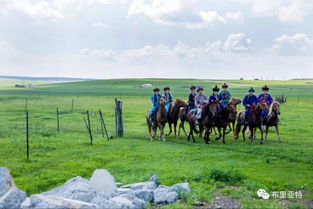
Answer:
POLYGON ((168 126, 170 128, 170 131, 166 136, 169 136, 172 133, 172 124, 174 125, 174 134, 176 138, 176 128, 177 128, 177 122, 179 118, 179 111, 181 108, 187 108, 187 104, 181 100, 181 99, 176 99, 175 103, 173 106, 171 106, 169 112, 168 112, 168 126))

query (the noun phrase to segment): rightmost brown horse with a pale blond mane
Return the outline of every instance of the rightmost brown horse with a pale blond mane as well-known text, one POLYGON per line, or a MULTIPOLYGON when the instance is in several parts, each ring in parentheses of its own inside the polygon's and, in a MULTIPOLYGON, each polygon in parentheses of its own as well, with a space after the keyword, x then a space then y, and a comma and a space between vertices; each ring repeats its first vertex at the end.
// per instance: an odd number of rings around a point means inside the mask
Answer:
POLYGON ((267 134, 268 134, 268 128, 269 127, 275 127, 276 129, 276 134, 277 134, 277 138, 278 138, 278 141, 281 142, 281 138, 280 138, 280 134, 279 134, 279 128, 278 128, 278 125, 279 125, 279 118, 278 116, 280 115, 280 104, 279 102, 277 101, 274 101, 270 108, 269 108, 269 111, 268 111, 268 114, 265 118, 265 126, 266 126, 266 129, 265 129, 265 140, 267 140, 267 134))

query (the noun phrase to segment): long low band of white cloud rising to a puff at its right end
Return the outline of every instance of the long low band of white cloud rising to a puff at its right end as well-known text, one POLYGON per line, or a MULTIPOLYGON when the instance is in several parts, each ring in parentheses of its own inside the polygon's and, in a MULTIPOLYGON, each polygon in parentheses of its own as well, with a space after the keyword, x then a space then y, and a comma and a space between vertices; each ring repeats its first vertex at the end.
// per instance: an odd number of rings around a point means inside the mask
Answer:
POLYGON ((204 46, 190 47, 178 41, 174 47, 165 45, 146 45, 143 48, 129 50, 90 50, 82 49, 82 56, 93 57, 116 62, 128 62, 147 57, 198 59, 220 56, 223 53, 249 52, 252 50, 251 40, 243 33, 230 34, 223 43, 222 41, 207 42, 204 46))

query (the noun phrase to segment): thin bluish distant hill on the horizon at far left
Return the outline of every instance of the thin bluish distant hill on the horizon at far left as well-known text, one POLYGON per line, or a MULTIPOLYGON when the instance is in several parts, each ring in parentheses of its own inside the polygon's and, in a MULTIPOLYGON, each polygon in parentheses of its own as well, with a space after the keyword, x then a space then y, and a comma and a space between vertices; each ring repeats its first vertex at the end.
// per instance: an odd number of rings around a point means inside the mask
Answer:
POLYGON ((66 78, 66 77, 25 77, 25 76, 1 76, 0 79, 25 80, 25 81, 90 81, 92 78, 66 78))

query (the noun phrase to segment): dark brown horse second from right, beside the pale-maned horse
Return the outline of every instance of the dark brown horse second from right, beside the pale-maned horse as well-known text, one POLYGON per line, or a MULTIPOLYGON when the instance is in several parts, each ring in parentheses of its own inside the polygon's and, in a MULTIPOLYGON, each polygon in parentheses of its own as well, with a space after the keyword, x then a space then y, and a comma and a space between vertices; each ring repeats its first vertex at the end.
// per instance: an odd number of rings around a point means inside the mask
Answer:
POLYGON ((256 129, 259 128, 261 131, 261 141, 260 143, 263 144, 263 128, 264 125, 264 118, 262 117, 262 111, 267 110, 267 104, 265 101, 261 100, 254 109, 250 111, 249 117, 248 117, 248 124, 243 123, 243 113, 244 111, 241 111, 237 116, 237 125, 236 125, 236 133, 235 133, 235 139, 238 139, 238 135, 241 129, 241 126, 244 126, 242 129, 242 136, 243 141, 246 141, 245 132, 247 128, 249 127, 250 130, 250 139, 251 142, 255 139, 256 129))

